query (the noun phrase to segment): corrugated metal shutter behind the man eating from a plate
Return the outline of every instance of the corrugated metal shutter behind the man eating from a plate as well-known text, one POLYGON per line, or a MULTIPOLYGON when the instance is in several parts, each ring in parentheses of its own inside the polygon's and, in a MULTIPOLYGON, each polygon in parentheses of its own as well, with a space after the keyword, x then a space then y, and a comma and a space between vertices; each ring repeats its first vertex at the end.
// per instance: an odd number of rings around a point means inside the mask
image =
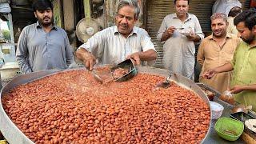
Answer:
MULTIPOLYGON (((202 26, 202 31, 210 34, 211 9, 215 0, 193 0, 190 1, 190 14, 195 14, 202 26)), ((244 9, 250 7, 250 0, 241 0, 244 9)), ((162 67, 162 43, 158 42, 156 34, 161 26, 163 18, 167 14, 174 13, 174 0, 147 0, 146 1, 146 30, 150 34, 154 46, 158 51, 156 67, 162 67)))

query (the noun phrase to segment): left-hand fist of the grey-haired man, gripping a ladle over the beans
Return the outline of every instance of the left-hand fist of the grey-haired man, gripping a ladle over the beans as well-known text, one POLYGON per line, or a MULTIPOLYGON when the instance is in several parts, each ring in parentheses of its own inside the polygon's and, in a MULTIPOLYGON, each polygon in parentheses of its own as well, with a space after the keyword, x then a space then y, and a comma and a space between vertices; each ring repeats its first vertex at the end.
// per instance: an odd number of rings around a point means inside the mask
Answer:
POLYGON ((79 49, 75 52, 77 58, 82 61, 83 65, 86 66, 86 69, 93 70, 96 63, 96 58, 93 54, 90 54, 86 49, 79 49))

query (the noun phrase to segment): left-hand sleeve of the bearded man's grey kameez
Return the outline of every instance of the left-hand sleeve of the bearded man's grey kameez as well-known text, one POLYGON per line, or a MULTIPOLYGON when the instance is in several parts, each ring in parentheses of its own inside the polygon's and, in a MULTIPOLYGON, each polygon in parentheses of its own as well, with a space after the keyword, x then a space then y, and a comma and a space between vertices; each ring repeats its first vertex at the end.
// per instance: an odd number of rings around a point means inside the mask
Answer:
POLYGON ((27 35, 26 28, 22 30, 20 37, 18 38, 18 46, 16 51, 16 60, 18 61, 18 66, 22 73, 30 73, 33 70, 28 62, 28 48, 27 48, 27 35))

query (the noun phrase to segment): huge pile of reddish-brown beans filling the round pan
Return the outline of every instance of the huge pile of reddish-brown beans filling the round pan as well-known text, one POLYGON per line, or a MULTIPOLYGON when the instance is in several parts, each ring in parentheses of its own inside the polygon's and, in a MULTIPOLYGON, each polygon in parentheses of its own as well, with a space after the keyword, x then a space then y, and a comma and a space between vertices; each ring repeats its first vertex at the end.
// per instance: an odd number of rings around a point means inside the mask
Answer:
POLYGON ((36 143, 200 143, 210 109, 197 94, 163 77, 139 73, 128 82, 96 82, 70 70, 5 94, 6 114, 36 143))

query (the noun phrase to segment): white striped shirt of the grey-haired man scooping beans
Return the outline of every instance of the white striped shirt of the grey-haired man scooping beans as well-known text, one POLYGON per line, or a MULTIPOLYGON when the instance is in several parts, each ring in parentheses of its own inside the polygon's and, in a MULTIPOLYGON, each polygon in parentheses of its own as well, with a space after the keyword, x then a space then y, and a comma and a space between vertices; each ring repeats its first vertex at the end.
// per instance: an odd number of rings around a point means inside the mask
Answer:
POLYGON ((88 42, 79 46, 90 51, 98 64, 118 64, 129 54, 139 51, 155 50, 146 30, 134 26, 131 34, 125 38, 118 32, 117 26, 106 28, 91 37, 88 42))

